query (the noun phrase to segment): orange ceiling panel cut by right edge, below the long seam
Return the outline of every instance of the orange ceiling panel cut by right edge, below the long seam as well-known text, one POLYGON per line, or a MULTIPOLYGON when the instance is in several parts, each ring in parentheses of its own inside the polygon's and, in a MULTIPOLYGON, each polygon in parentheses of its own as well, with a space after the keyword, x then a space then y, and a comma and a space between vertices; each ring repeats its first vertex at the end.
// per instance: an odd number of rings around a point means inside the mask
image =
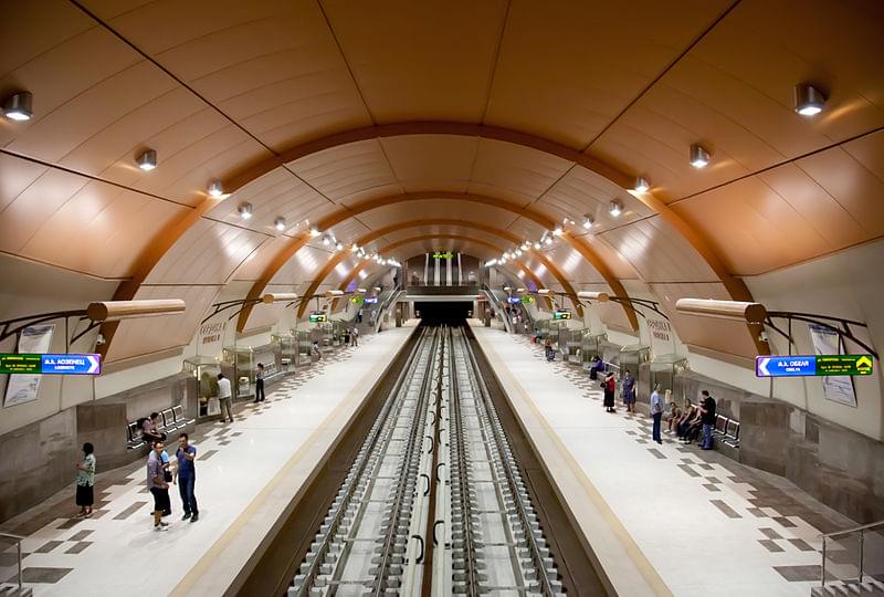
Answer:
POLYGON ((819 184, 843 207, 869 235, 884 234, 884 179, 881 178, 880 154, 875 158, 873 147, 881 151, 884 136, 867 139, 863 144, 835 147, 802 158, 796 164, 819 184), (856 158, 845 149, 856 150, 856 158), (863 149, 865 153, 863 153, 863 149))

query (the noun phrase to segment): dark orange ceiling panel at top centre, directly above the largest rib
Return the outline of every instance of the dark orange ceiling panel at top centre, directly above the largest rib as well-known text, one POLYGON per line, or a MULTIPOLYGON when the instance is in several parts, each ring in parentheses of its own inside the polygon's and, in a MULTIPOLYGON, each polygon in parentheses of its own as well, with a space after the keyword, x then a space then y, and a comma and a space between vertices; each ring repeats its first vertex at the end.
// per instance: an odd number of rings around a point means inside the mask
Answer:
POLYGON ((322 2, 378 123, 478 122, 506 2, 322 2))

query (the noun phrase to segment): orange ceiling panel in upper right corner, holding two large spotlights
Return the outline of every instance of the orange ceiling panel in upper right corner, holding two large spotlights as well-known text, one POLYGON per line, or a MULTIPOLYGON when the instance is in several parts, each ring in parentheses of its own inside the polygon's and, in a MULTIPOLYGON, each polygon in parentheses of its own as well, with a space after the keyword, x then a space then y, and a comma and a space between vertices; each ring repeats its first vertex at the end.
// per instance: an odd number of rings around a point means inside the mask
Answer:
POLYGON ((589 153, 649 174, 661 198, 674 200, 881 127, 873 4, 740 2, 589 153), (830 95, 812 121, 793 111, 801 82, 830 95), (686 159, 695 142, 713 153, 701 172, 686 159))

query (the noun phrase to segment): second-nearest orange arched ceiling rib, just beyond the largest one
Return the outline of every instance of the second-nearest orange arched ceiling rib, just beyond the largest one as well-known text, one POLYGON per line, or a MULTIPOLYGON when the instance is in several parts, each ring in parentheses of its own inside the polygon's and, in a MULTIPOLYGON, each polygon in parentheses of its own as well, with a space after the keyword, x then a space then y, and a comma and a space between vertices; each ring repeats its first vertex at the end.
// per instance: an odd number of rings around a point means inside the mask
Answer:
MULTIPOLYGON (((551 229, 555 227, 555 222, 551 218, 544 216, 537 211, 518 207, 509 201, 504 201, 503 199, 497 199, 496 197, 488 197, 485 195, 476 195, 476 193, 464 193, 464 192, 452 192, 452 191, 423 191, 423 192, 411 192, 406 195, 393 195, 389 197, 379 197, 377 199, 370 199, 368 201, 362 201, 361 203, 356 203, 350 206, 349 208, 341 208, 340 210, 326 216, 322 220, 319 220, 316 224, 317 230, 325 231, 332 228, 333 226, 343 222, 348 218, 354 218, 360 213, 366 211, 370 211, 372 209, 378 209, 385 206, 390 206, 394 203, 401 203, 404 201, 421 201, 427 199, 453 199, 459 201, 467 201, 473 203, 483 203, 496 208, 504 209, 516 216, 520 216, 527 218, 546 229, 551 229)), ((302 232, 297 237, 293 237, 283 247, 280 252, 274 255, 274 258, 270 261, 267 266, 265 268, 262 275, 252 284, 252 287, 246 295, 246 298, 257 298, 264 292, 264 289, 270 281, 273 280, 273 276, 276 275, 276 272, 282 269, 286 261, 288 261, 295 253, 297 253, 303 247, 307 244, 311 240, 309 232, 302 232)), ((582 240, 571 237, 570 234, 562 233, 561 238, 570 244, 575 250, 577 250, 580 255, 592 265, 596 271, 604 279, 604 282, 614 292, 614 294, 619 296, 628 296, 625 287, 623 284, 620 283, 620 280, 613 274, 613 272, 608 268, 608 265, 601 260, 601 258, 596 254, 591 247, 586 244, 582 240)), ((630 322, 630 325, 633 329, 639 328, 639 322, 635 316, 635 312, 629 304, 622 305, 623 311, 627 315, 627 320, 630 322)), ((243 310, 240 314, 240 320, 236 323, 236 329, 242 331, 245 328, 245 321, 249 318, 251 314, 250 308, 243 310)))

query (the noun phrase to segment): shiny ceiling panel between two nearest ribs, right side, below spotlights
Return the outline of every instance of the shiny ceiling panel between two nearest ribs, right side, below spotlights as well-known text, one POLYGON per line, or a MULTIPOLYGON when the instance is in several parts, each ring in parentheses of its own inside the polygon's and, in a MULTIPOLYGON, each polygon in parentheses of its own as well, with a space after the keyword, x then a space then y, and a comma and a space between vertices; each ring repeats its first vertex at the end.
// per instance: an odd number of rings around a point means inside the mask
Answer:
POLYGON ((715 273, 660 217, 599 235, 623 255, 646 282, 711 282, 715 273))

